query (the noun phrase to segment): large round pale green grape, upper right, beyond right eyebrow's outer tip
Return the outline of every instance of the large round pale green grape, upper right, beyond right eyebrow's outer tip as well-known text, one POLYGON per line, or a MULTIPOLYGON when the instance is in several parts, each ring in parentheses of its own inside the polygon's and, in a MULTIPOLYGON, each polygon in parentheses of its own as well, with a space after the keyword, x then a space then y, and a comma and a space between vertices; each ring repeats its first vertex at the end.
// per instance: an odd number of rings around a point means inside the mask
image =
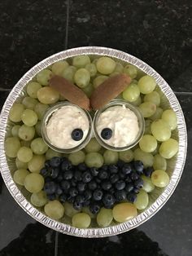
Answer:
POLYGON ((156 82, 153 77, 146 75, 139 79, 138 86, 141 93, 147 95, 155 90, 156 82))

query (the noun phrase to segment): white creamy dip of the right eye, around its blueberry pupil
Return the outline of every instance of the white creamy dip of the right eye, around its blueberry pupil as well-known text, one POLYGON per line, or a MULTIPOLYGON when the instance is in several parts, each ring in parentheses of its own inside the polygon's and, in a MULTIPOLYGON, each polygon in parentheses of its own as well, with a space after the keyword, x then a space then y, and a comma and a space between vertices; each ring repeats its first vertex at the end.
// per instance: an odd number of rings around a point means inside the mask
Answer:
POLYGON ((125 105, 107 108, 98 117, 96 129, 105 143, 116 148, 126 147, 133 143, 139 132, 137 116, 125 105), (112 130, 111 139, 102 138, 101 132, 104 128, 112 130))

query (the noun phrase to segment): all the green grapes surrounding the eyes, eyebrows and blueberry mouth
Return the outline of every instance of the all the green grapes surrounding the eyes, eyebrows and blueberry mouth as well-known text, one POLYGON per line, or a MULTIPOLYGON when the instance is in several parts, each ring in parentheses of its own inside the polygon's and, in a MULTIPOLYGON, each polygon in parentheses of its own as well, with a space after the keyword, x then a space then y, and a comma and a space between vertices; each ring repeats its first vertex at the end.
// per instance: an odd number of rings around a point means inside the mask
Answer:
MULTIPOLYGON (((15 183, 24 186, 31 192, 33 205, 43 210, 51 218, 59 219, 64 216, 72 218, 75 227, 89 227, 90 218, 96 218, 99 227, 107 227, 113 218, 118 222, 124 222, 133 218, 137 210, 146 209, 149 198, 148 193, 156 187, 163 188, 169 182, 166 172, 166 159, 172 158, 178 150, 176 139, 172 139, 172 130, 177 128, 177 117, 172 109, 165 109, 161 104, 161 97, 155 79, 142 73, 141 70, 131 64, 120 64, 109 57, 92 57, 79 55, 72 60, 60 60, 49 68, 41 70, 33 81, 26 86, 27 96, 13 104, 9 119, 12 123, 11 136, 5 141, 7 157, 15 159, 15 183), (129 203, 116 205, 113 210, 100 210, 97 216, 91 214, 88 208, 81 213, 74 210, 72 205, 66 202, 63 205, 59 201, 48 202, 43 192, 44 179, 40 174, 45 161, 52 157, 62 157, 60 152, 48 148, 41 138, 41 120, 51 104, 55 104, 64 98, 49 86, 49 79, 53 74, 65 77, 75 83, 85 94, 90 97, 107 77, 119 73, 127 73, 131 78, 131 84, 119 95, 119 98, 138 106, 146 121, 145 135, 139 144, 124 152, 112 152, 105 150, 97 142, 91 139, 86 147, 68 155, 72 165, 85 162, 88 167, 101 167, 103 164, 116 164, 120 159, 130 162, 140 160, 144 166, 153 166, 155 171, 151 178, 142 176, 144 186, 137 194, 134 206, 129 203), (112 212, 113 211, 113 212, 112 212)), ((66 157, 66 156, 65 156, 66 157)), ((65 220, 64 220, 65 221, 65 220)))

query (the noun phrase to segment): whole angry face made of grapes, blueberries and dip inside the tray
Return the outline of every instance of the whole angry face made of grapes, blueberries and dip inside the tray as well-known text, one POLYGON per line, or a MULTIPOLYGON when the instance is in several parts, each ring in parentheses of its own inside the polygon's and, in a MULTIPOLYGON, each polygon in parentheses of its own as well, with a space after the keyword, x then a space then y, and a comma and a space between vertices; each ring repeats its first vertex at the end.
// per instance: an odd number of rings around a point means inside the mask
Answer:
POLYGON ((12 106, 5 152, 13 179, 48 217, 108 227, 149 206, 169 183, 177 117, 155 79, 107 56, 41 70, 12 106))

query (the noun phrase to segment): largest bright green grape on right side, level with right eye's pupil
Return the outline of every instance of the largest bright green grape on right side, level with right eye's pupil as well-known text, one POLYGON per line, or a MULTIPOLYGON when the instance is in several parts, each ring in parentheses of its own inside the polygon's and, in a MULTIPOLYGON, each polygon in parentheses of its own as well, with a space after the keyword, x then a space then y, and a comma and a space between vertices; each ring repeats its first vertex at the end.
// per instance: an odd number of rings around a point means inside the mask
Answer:
POLYGON ((159 141, 165 141, 171 137, 171 129, 168 127, 167 122, 162 119, 152 122, 151 133, 159 141))

